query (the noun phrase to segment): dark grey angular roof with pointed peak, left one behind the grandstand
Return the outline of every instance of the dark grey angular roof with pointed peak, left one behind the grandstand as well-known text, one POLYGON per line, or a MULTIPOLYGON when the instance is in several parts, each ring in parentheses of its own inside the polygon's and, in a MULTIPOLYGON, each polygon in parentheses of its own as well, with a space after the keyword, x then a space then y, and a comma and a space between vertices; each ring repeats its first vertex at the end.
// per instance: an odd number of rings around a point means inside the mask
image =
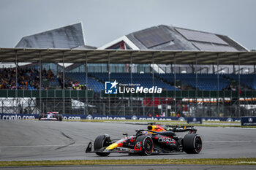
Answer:
MULTIPOLYGON (((82 23, 24 36, 15 47, 32 48, 73 48, 85 46, 82 23)), ((91 49, 88 47, 86 49, 91 49)))

